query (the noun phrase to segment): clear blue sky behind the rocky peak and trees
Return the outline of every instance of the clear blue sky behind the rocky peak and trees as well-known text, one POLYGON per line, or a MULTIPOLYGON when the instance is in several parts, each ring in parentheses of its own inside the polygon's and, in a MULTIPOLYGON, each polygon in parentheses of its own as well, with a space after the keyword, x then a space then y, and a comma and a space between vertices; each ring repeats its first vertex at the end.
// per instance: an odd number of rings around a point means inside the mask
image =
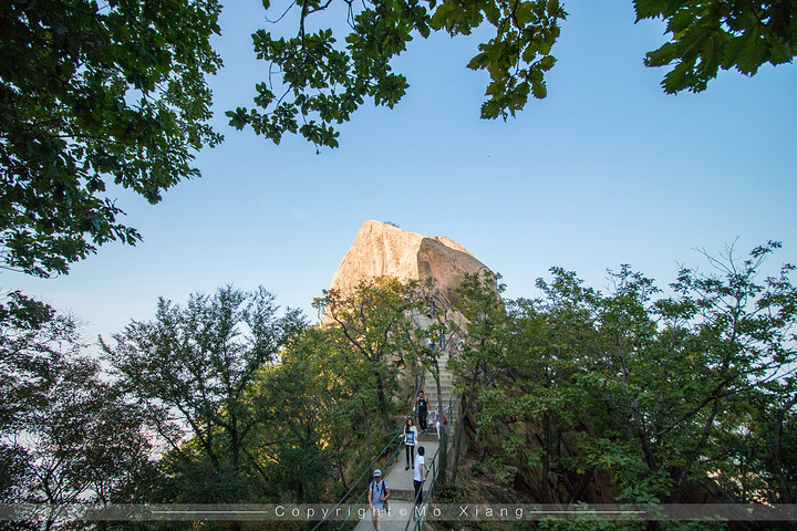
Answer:
POLYGON ((433 35, 394 62, 411 84, 396 108, 366 103, 341 147, 317 155, 227 126, 224 111, 251 106, 267 75, 251 51, 267 27, 260 2, 229 3, 215 41, 226 67, 211 80, 226 142, 198 154, 203 178, 154 207, 120 191, 144 236, 135 248, 105 246, 58 279, 0 275, 81 317, 89 341, 152 319, 158 296, 184 303, 227 283, 262 284, 311 313, 368 219, 449 236, 504 275, 510 298, 532 296, 551 266, 601 288, 608 268, 630 263, 665 287, 679 262, 706 266, 695 249, 720 253, 737 237, 741 253, 776 239, 773 262, 797 262, 794 65, 667 96, 666 71, 642 64, 662 23, 634 24, 631 0, 571 0, 548 98, 516 118, 478 118, 487 77, 465 64, 488 35, 433 35))

